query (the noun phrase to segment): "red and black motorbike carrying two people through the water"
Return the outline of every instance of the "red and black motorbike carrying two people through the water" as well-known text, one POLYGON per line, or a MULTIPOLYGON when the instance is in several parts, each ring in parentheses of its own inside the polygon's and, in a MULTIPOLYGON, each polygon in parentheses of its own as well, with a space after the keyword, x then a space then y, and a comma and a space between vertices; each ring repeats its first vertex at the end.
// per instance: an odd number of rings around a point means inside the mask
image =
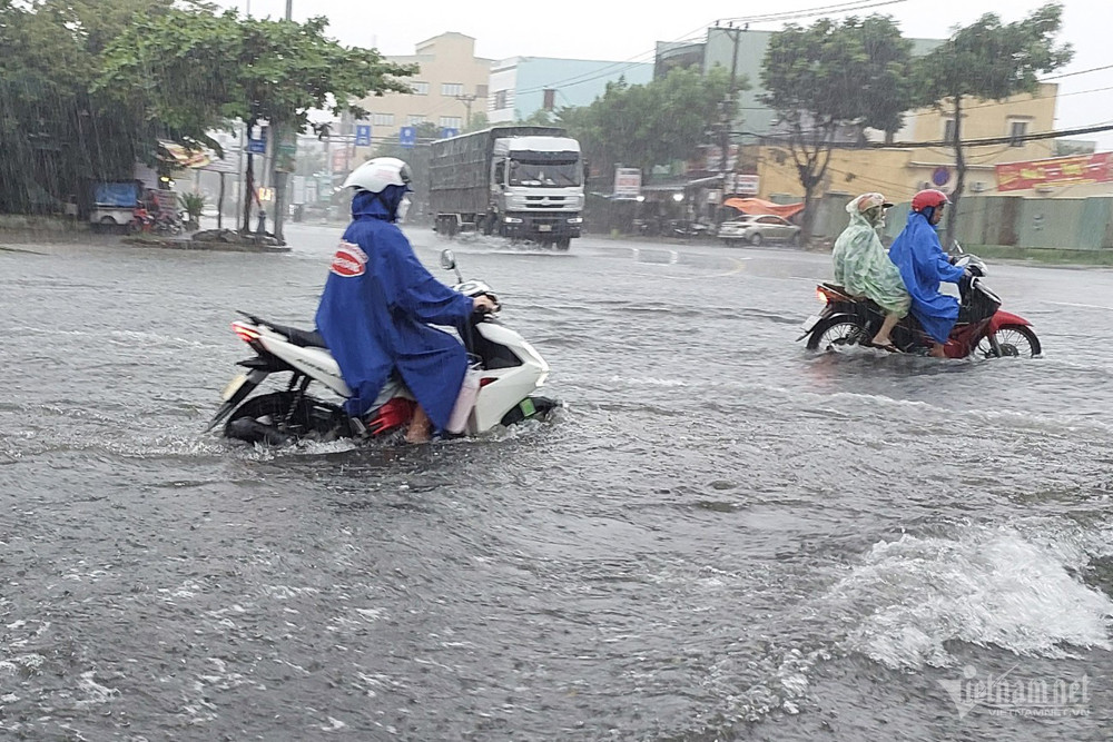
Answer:
MULTIPOLYGON (((957 244, 956 247, 962 251, 957 244)), ((969 254, 953 261, 968 268, 968 275, 958 285, 958 321, 944 345, 947 357, 1038 356, 1042 348, 1032 324, 1018 315, 1002 311, 1001 297, 983 283, 985 261, 969 254)), ((868 298, 851 296, 836 284, 820 284, 816 289, 826 306, 819 314, 808 317, 801 328, 804 334, 797 340, 808 338, 809 350, 868 346, 880 329, 885 310, 868 298)), ((932 345, 912 314, 900 320, 890 337, 898 349, 909 354, 925 355, 932 345)))

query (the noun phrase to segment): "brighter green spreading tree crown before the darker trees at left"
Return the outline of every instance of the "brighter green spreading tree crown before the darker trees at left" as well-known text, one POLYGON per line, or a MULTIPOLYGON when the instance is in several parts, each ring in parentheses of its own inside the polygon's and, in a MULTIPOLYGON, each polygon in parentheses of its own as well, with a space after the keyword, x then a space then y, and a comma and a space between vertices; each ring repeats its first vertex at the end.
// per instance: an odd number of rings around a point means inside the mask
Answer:
POLYGON ((225 120, 302 131, 309 109, 367 116, 358 100, 407 87, 413 66, 325 37, 325 18, 305 23, 175 9, 134 23, 109 46, 97 89, 144 105, 183 144, 216 145, 225 120))

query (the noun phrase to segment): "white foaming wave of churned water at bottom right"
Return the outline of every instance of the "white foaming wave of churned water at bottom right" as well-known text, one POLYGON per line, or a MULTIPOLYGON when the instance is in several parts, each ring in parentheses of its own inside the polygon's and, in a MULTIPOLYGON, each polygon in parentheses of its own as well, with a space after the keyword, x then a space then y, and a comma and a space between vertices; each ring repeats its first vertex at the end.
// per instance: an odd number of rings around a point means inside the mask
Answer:
POLYGON ((876 544, 827 600, 861 616, 849 647, 894 669, 948 666, 949 641, 1047 657, 1113 650, 1113 602, 1073 576, 1089 558, 1075 543, 1005 527, 905 534, 876 544))

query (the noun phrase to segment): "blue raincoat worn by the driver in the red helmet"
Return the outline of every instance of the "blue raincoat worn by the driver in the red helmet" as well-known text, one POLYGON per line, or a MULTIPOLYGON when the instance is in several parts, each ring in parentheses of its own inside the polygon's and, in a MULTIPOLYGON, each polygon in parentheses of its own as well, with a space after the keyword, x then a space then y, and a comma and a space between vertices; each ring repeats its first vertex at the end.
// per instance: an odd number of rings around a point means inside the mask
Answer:
POLYGON ((966 271, 951 265, 927 217, 918 211, 908 215, 908 224, 889 247, 889 259, 912 295, 912 314, 932 339, 946 343, 958 319, 958 299, 942 294, 939 284, 957 284, 966 271))

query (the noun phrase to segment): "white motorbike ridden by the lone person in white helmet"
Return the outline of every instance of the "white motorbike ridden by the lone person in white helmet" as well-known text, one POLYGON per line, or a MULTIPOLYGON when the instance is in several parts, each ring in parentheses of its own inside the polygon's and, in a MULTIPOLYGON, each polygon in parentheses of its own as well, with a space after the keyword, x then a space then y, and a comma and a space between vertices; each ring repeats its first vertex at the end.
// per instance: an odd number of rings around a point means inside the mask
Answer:
MULTIPOLYGON (((460 283, 453 287, 455 290, 470 297, 485 295, 495 299, 483 281, 463 280, 451 250, 441 254, 441 265, 456 271, 460 283)), ((223 404, 209 423, 209 431, 227 418, 226 437, 282 445, 303 439, 381 437, 410 422, 416 403, 396 375, 384 385, 367 414, 351 417, 342 405, 352 390, 319 333, 276 325, 254 315, 244 317, 234 321, 232 329, 255 356, 237 364, 246 372, 224 388, 223 404), (285 373, 290 374, 285 389, 252 396, 267 377, 285 373), (314 383, 339 399, 311 395, 314 383)), ((455 435, 480 435, 499 425, 543 418, 560 406, 559 402, 535 394, 549 377, 549 364, 494 315, 473 315, 460 334, 469 358, 464 387, 475 394, 471 409, 462 410, 466 417, 463 429, 455 435)), ((313 392, 317 394, 317 389, 313 392)))

